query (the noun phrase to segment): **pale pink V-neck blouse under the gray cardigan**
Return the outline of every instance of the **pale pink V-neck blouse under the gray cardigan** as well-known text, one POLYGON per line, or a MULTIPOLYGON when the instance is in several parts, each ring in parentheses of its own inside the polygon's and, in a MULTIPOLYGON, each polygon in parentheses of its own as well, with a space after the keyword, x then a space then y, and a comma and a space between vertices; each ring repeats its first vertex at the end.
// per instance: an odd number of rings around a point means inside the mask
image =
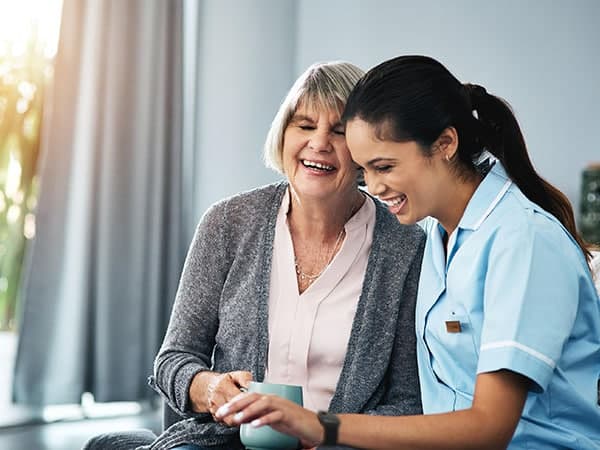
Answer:
POLYGON ((269 355, 265 381, 303 387, 304 406, 327 410, 352 329, 373 242, 375 204, 366 198, 345 225, 346 238, 329 266, 298 292, 289 228, 289 191, 275 226, 269 291, 269 355))

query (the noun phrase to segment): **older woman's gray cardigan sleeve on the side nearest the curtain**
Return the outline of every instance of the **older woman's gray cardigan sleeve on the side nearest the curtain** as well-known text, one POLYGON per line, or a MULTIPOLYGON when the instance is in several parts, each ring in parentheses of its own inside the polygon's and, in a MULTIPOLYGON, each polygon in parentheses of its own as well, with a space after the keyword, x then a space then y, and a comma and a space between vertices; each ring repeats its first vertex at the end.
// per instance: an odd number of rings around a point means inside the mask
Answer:
POLYGON ((151 386, 182 415, 192 413, 192 378, 211 368, 219 326, 219 300, 227 277, 225 205, 200 221, 183 267, 169 326, 154 361, 151 386))

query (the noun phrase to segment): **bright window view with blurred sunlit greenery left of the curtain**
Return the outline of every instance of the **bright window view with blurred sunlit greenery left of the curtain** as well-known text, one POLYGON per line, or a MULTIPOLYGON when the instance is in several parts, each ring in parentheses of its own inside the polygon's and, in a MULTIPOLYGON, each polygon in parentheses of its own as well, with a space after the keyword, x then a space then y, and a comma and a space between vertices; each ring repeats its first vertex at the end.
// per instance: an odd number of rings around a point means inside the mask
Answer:
POLYGON ((62 0, 0 0, 0 331, 13 330, 27 242, 35 236, 44 93, 62 0))

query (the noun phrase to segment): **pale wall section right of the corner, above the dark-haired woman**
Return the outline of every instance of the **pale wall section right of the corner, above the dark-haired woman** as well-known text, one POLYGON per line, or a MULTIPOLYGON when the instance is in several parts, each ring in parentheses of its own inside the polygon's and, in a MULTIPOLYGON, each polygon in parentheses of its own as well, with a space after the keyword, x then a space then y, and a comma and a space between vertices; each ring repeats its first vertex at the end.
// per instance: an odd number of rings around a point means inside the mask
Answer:
POLYGON ((536 168, 579 208, 600 161, 600 2, 301 0, 296 71, 347 59, 367 69, 427 54, 511 103, 536 168))

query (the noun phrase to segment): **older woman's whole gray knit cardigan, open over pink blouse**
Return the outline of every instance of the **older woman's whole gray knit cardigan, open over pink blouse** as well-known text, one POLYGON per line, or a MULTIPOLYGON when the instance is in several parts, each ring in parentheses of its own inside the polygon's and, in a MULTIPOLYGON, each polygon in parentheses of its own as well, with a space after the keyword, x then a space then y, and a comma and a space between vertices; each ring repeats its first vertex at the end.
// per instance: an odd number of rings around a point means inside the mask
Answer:
MULTIPOLYGON (((243 448, 237 428, 190 410, 188 388, 202 370, 247 370, 255 380, 264 378, 275 222, 286 188, 281 182, 235 195, 200 221, 150 378, 187 418, 143 448, 243 448)), ((329 411, 419 414, 414 311, 425 236, 375 203, 373 244, 329 411)))

